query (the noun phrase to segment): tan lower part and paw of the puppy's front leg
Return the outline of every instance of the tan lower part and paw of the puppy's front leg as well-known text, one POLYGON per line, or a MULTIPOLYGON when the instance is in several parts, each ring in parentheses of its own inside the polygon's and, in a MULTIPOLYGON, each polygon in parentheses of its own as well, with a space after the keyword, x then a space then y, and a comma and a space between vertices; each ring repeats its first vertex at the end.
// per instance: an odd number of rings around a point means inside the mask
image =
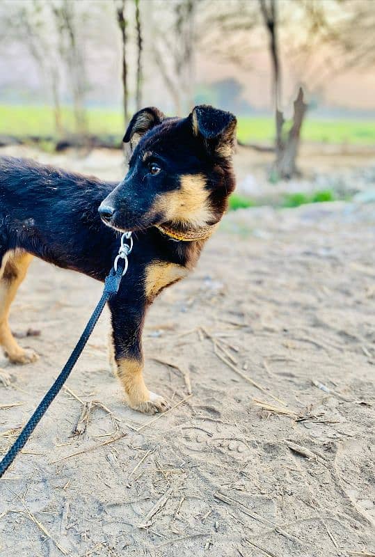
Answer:
POLYGON ((117 366, 117 375, 131 408, 144 414, 156 414, 168 409, 168 402, 145 386, 142 375, 143 361, 122 359, 117 361, 117 366))

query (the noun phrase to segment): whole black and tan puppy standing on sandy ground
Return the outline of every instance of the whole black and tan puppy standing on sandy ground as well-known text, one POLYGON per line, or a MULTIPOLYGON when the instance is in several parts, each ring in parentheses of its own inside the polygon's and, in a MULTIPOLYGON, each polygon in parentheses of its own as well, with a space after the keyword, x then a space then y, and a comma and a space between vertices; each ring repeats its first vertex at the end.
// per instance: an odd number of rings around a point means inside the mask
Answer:
POLYGON ((143 382, 145 312, 196 265, 225 212, 234 189, 235 128, 232 114, 212 107, 196 107, 187 118, 143 109, 125 134, 131 158, 117 187, 0 158, 0 345, 10 361, 35 359, 17 345, 8 324, 32 257, 104 281, 118 252, 115 230, 132 230, 129 270, 109 303, 117 373, 132 408, 153 413, 168 407, 143 382))

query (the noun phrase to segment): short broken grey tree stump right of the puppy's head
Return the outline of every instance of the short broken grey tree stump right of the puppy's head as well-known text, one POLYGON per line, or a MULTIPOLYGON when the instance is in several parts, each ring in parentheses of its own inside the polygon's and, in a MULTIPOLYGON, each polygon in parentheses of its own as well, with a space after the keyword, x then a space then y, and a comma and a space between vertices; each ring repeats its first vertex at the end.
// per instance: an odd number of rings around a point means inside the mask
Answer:
MULTIPOLYGON (((276 154, 275 170, 280 178, 289 179, 298 172, 296 168, 296 158, 301 140, 303 118, 305 118, 307 109, 308 104, 303 100, 303 90, 300 87, 297 98, 294 101, 293 125, 289 130, 287 139, 282 141, 282 145, 276 154)), ((284 118, 281 112, 278 112, 278 114, 280 115, 280 127, 282 127, 284 118)))

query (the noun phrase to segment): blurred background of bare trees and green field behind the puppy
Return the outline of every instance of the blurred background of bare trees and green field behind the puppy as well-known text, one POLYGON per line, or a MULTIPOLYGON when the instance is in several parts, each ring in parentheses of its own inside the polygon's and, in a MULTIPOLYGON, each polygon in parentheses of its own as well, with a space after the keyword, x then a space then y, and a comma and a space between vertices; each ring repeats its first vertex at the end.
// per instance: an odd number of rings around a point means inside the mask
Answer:
POLYGON ((372 199, 374 29, 372 0, 0 0, 0 146, 117 180, 134 111, 207 103, 232 209, 372 199))

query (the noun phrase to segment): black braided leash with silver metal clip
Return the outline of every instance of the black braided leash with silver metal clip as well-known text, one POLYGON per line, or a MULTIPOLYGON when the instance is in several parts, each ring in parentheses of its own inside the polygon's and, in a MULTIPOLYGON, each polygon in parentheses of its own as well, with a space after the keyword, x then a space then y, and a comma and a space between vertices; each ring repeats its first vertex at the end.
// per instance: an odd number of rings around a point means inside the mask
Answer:
POLYGON ((69 377, 70 372, 74 368, 74 365, 77 363, 79 356, 83 348, 86 346, 88 339, 90 338, 91 333, 99 319, 106 302, 115 294, 117 294, 118 289, 120 288, 120 282, 122 276, 125 275, 127 272, 127 256, 131 252, 131 248, 133 246, 133 242, 131 240, 131 233, 125 233, 122 235, 121 238, 121 246, 118 252, 118 256, 115 258, 115 262, 111 272, 106 277, 104 283, 104 290, 102 297, 99 300, 95 310, 93 311, 93 315, 91 315, 88 324, 86 325, 85 330, 83 331, 81 338, 79 339, 76 347, 74 348, 70 358, 65 363, 63 370, 61 371, 60 375, 58 375, 56 381, 51 386, 51 389, 47 391, 47 394, 44 398, 42 398, 41 402, 39 403, 38 407, 35 409, 33 415, 29 419, 29 421, 24 426, 22 432, 17 437, 13 446, 10 447, 8 453, 3 457, 0 462, 0 478, 3 476, 3 473, 9 468, 10 464, 12 464, 15 457, 18 455, 19 451, 24 448, 26 442, 29 440, 33 430, 40 422, 42 416, 44 416, 45 412, 51 405, 51 402, 54 400, 56 395, 61 391, 63 384, 69 377), (125 240, 130 240, 130 245, 125 244, 125 240))

